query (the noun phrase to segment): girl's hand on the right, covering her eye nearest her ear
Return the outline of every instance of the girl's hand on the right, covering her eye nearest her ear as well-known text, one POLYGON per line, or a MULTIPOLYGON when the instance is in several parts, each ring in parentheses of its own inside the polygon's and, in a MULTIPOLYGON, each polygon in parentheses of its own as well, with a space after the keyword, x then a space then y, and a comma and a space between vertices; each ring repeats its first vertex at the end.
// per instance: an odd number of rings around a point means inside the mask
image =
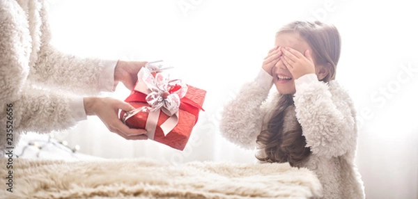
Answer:
POLYGON ((304 55, 290 47, 283 47, 281 51, 283 51, 281 61, 291 72, 293 79, 298 79, 305 74, 315 74, 314 60, 309 50, 305 51, 304 55))

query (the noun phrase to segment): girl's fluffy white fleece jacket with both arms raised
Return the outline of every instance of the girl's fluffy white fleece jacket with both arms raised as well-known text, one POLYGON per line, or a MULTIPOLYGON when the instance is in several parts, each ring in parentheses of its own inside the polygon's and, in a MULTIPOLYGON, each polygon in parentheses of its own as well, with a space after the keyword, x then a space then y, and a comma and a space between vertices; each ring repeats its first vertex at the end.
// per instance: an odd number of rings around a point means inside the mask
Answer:
MULTIPOLYGON (((272 79, 261 70, 255 81, 242 86, 235 100, 226 104, 220 130, 229 141, 242 148, 256 147, 256 136, 277 104, 277 94, 269 97, 272 79)), ((302 167, 318 175, 323 198, 364 198, 363 182, 354 163, 357 125, 348 93, 336 81, 318 81, 315 74, 296 79, 295 87, 295 111, 285 116, 284 129, 293 129, 297 122, 302 126, 312 152, 302 167)))

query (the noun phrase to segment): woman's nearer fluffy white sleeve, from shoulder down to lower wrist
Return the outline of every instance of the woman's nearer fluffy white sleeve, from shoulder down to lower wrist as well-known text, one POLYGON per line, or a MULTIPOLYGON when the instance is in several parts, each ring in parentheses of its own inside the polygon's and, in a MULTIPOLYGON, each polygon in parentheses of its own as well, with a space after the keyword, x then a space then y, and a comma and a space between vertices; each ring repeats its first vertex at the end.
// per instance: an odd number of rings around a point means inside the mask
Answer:
POLYGON ((0 21, 0 121, 3 124, 0 151, 3 152, 8 141, 17 143, 20 132, 64 129, 74 125, 75 120, 69 105, 72 97, 29 86, 31 37, 26 15, 17 1, 0 1, 0 21))

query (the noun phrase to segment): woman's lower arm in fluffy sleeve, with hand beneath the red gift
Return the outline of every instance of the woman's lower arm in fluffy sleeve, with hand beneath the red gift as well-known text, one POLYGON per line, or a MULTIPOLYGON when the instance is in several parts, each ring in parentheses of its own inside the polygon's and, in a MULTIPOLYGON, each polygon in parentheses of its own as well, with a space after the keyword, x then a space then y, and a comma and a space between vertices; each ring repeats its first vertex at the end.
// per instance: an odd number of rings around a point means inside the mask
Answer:
MULTIPOLYGON (((52 131, 60 131, 74 126, 80 116, 98 116, 106 127, 126 139, 146 139, 144 129, 130 129, 118 119, 118 109, 131 111, 130 104, 110 97, 84 97, 84 109, 74 109, 74 103, 78 96, 59 93, 55 90, 38 88, 26 84, 22 89, 18 100, 8 100, 5 107, 11 106, 13 118, 13 145, 18 141, 20 134, 24 132, 36 132, 40 134, 52 131)), ((5 125, 0 127, 0 154, 6 149, 6 120, 8 116, 0 111, 5 125)))

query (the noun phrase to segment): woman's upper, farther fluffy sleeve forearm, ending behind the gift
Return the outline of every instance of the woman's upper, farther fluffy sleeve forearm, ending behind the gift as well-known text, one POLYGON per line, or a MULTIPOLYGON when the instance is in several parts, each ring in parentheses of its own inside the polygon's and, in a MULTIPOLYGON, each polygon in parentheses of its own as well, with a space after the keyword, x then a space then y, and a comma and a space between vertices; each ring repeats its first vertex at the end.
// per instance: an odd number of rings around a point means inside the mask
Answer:
POLYGON ((117 61, 64 54, 52 45, 46 45, 38 53, 34 75, 37 81, 48 85, 73 93, 91 95, 114 90, 116 63, 117 61))

